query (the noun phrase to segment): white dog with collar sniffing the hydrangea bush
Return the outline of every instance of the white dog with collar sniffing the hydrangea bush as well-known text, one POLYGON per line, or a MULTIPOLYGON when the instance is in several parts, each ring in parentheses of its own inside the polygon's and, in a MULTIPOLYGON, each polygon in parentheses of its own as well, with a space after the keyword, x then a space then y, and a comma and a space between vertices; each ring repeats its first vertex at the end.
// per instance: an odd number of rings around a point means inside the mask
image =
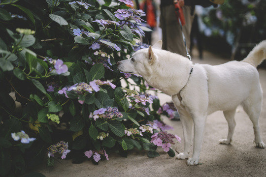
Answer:
POLYGON ((131 59, 118 62, 122 72, 141 75, 154 88, 172 96, 179 111, 184 133, 184 152, 178 159, 188 158, 188 165, 197 165, 207 115, 222 110, 228 122, 228 136, 221 144, 230 144, 235 127, 234 114, 242 105, 253 123, 255 144, 265 148, 260 136, 259 117, 262 109, 262 88, 256 67, 266 59, 266 40, 258 44, 242 61, 229 61, 211 66, 193 64, 189 59, 162 50, 162 41, 153 47, 135 52, 131 59))

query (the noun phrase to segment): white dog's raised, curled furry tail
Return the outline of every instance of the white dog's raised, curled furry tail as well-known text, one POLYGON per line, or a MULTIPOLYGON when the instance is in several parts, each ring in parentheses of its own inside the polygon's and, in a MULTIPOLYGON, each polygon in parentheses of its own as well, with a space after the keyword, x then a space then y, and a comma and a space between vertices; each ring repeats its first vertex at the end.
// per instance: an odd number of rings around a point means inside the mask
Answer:
POLYGON ((242 61, 257 67, 264 59, 266 59, 266 40, 257 44, 242 61))

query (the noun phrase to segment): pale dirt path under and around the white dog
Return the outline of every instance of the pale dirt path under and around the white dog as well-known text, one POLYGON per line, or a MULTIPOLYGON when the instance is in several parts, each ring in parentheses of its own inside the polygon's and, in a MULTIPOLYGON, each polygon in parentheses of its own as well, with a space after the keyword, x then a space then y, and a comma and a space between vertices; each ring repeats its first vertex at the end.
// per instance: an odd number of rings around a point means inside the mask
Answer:
MULTIPOLYGON (((199 62, 194 59, 194 62, 199 62)), ((202 63, 220 64, 226 60, 205 53, 202 63)), ((261 135, 266 143, 266 70, 259 69, 260 80, 264 90, 264 105, 260 117, 261 135)), ((160 94, 161 103, 170 100, 167 95, 160 94)), ((164 121, 173 126, 174 133, 183 138, 180 121, 164 121)), ((200 163, 198 166, 187 166, 186 160, 175 160, 158 148, 161 156, 148 158, 145 152, 133 151, 128 158, 110 154, 109 161, 100 161, 93 165, 91 161, 82 164, 72 164, 71 160, 60 160, 55 168, 41 169, 46 177, 265 177, 266 149, 255 148, 253 143, 253 125, 242 108, 236 115, 236 128, 231 145, 219 145, 219 139, 226 138, 228 126, 222 112, 208 116, 200 163)), ((176 146, 182 151, 183 145, 176 146)), ((191 154, 190 154, 191 156, 191 154)))

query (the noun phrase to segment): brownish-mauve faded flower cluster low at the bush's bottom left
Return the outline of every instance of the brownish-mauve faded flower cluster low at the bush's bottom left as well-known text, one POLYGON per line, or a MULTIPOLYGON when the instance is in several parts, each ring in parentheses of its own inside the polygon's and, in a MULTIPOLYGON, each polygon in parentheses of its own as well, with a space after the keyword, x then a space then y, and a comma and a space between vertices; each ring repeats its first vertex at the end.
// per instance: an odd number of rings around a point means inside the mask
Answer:
POLYGON ((55 145, 51 145, 48 149, 48 157, 50 158, 51 156, 54 157, 55 153, 60 153, 61 158, 65 159, 66 158, 66 154, 70 152, 70 150, 68 149, 68 143, 61 141, 59 143, 56 143, 55 145))

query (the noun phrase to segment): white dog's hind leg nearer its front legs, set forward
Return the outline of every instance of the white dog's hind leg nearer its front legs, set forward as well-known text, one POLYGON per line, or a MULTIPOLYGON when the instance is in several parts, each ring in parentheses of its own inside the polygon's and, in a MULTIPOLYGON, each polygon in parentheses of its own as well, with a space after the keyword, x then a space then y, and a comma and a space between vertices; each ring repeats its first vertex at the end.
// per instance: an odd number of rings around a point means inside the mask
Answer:
POLYGON ((234 120, 235 111, 236 109, 224 111, 224 116, 228 123, 228 135, 226 139, 219 140, 220 144, 228 145, 232 141, 234 127, 235 127, 235 120, 234 120))

